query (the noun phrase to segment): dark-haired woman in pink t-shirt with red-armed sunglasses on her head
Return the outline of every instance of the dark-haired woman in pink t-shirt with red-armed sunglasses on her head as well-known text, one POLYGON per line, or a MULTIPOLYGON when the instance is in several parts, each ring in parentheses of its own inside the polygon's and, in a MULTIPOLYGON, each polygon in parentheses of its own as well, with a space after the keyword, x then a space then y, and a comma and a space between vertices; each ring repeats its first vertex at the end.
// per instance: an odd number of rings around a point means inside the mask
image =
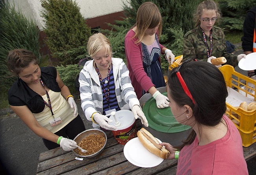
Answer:
POLYGON ((176 120, 192 131, 170 151, 177 174, 248 174, 239 131, 224 115, 228 91, 219 69, 207 62, 184 61, 168 77, 169 106, 176 120))

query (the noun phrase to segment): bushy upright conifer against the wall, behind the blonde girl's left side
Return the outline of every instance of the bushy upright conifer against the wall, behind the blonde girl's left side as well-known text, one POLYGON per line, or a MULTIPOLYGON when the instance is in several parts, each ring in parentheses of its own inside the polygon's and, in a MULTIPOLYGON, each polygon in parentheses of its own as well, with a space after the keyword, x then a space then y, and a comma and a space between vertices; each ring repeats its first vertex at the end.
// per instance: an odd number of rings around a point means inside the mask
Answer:
POLYGON ((72 49, 86 46, 91 29, 73 0, 41 0, 44 8, 46 44, 60 64, 76 64, 81 53, 72 49), (70 52, 72 52, 70 54, 70 52))

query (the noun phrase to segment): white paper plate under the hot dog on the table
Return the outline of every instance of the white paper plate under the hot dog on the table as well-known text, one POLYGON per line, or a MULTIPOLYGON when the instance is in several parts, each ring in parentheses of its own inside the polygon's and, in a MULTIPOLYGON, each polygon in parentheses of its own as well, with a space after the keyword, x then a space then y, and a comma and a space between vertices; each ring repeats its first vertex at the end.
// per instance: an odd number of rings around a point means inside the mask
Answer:
MULTIPOLYGON (((161 143, 159 139, 158 141, 161 143)), ((150 153, 150 151, 141 144, 138 137, 129 140, 124 145, 124 156, 130 163, 142 168, 154 167, 163 162, 163 159, 150 153)))

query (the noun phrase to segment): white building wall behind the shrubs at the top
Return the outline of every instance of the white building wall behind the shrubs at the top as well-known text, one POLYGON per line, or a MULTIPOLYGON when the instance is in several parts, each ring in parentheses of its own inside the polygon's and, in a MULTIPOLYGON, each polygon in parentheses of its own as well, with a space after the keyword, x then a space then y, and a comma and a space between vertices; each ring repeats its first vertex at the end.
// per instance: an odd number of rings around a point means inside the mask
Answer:
MULTIPOLYGON (((27 18, 33 19, 39 29, 43 30, 45 24, 40 16, 43 11, 40 0, 13 0, 13 2, 17 9, 19 8, 27 18)), ((129 4, 130 0, 76 0, 76 2, 83 17, 89 19, 122 11, 123 3, 129 4)))

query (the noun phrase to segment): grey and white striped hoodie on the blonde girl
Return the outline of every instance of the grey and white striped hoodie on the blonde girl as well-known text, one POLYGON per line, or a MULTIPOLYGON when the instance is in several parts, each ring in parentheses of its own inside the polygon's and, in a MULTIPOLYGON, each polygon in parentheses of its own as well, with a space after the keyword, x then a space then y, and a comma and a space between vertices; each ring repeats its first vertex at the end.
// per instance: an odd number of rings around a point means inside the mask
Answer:
MULTIPOLYGON (((93 63, 93 60, 87 61, 79 75, 81 107, 89 121, 92 121, 91 115, 94 112, 103 112, 102 89, 93 63)), ((112 58, 112 66, 115 94, 120 109, 132 109, 134 105, 139 105, 139 100, 129 77, 129 71, 123 60, 112 58)), ((97 126, 93 123, 94 128, 97 126)))

